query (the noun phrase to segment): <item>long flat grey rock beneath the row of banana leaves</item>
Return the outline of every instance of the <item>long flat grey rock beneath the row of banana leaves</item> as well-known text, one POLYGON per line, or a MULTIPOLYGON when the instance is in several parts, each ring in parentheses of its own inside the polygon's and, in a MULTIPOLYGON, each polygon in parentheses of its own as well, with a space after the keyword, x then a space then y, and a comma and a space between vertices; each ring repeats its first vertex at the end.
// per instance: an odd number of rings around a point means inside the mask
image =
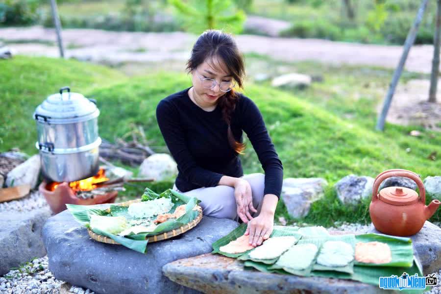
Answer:
POLYGON ((162 270, 172 281, 204 293, 384 293, 356 281, 244 270, 239 260, 218 254, 177 260, 162 270))

